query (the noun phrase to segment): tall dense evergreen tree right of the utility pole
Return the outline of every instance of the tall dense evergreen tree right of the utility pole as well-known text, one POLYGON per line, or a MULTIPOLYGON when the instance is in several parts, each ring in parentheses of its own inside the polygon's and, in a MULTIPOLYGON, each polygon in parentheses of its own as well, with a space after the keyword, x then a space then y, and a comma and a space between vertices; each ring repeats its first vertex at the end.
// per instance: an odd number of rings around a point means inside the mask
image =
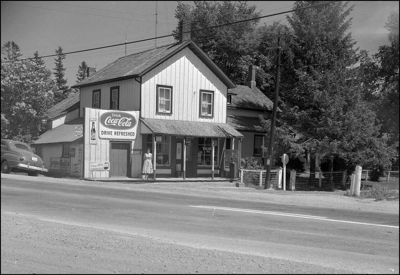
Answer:
MULTIPOLYGON (((324 1, 297 1, 303 8, 324 1)), ((287 16, 296 36, 291 43, 292 89, 282 92, 284 118, 308 142, 314 153, 343 167, 369 165, 366 169, 382 170, 392 148, 379 138, 380 125, 370 104, 364 100, 360 70, 352 67, 362 56, 354 49, 348 32, 353 7, 348 2, 308 8, 287 16), (367 163, 366 160, 374 159, 367 163)), ((285 79, 283 76, 282 79, 285 79)))

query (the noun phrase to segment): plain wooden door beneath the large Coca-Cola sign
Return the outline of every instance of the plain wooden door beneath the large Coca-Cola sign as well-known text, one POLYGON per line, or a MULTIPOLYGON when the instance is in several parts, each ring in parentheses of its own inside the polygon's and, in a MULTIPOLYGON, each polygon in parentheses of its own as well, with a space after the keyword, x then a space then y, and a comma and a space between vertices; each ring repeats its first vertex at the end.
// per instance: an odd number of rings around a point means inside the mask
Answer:
POLYGON ((130 176, 130 143, 111 142, 110 177, 130 176))

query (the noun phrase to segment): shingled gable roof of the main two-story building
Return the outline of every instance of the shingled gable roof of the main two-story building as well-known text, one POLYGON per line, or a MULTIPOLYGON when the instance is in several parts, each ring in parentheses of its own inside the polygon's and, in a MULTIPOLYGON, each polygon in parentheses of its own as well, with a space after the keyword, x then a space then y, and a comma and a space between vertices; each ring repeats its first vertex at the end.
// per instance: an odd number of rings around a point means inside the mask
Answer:
POLYGON ((146 50, 129 56, 124 56, 108 64, 92 76, 85 78, 72 88, 83 88, 136 78, 143 76, 185 47, 190 48, 196 56, 224 83, 228 89, 236 87, 235 84, 222 72, 220 68, 204 53, 192 40, 184 43, 170 44, 159 48, 146 50))

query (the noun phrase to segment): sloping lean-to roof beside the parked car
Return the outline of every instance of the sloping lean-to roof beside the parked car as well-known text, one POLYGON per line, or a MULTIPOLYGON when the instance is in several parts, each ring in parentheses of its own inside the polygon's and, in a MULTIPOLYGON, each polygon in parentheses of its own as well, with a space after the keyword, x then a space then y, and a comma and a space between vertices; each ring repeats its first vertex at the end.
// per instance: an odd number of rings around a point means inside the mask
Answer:
POLYGON ((76 127, 83 127, 83 118, 77 118, 61 124, 52 130, 48 130, 39 136, 33 144, 60 143, 60 142, 83 142, 82 136, 76 136, 76 127))

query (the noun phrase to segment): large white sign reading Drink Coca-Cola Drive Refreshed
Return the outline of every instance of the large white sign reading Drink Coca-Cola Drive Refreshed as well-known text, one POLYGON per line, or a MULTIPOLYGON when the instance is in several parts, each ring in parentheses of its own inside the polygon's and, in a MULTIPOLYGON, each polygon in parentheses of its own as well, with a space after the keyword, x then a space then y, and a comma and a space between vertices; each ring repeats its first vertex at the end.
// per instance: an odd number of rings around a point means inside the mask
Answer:
POLYGON ((136 139, 139 111, 99 111, 99 138, 136 139))

